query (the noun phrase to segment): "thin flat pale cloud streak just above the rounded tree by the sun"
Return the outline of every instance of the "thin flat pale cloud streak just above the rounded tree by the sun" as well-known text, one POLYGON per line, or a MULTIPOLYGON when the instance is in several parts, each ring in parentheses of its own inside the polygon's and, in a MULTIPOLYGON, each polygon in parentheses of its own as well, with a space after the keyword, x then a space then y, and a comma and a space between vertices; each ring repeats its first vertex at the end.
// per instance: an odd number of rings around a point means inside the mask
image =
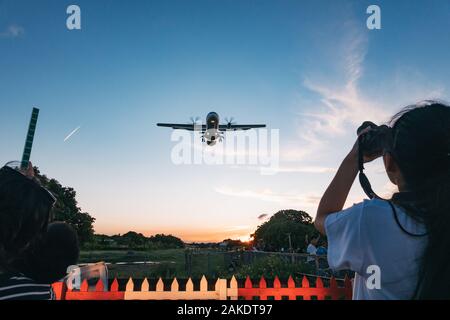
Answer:
POLYGON ((258 199, 261 201, 268 202, 277 202, 285 205, 296 205, 300 207, 313 207, 317 206, 321 195, 314 193, 298 193, 298 192, 289 192, 289 193, 277 193, 272 191, 271 189, 263 189, 263 190, 250 190, 250 189, 235 189, 227 186, 216 187, 214 190, 217 193, 232 196, 232 197, 240 197, 240 198, 252 198, 258 199))

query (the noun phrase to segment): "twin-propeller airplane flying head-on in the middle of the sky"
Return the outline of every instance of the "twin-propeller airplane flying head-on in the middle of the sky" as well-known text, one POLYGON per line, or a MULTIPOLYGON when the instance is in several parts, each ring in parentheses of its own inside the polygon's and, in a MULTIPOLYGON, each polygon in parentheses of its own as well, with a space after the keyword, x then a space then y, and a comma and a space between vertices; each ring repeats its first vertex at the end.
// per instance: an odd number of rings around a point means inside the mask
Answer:
POLYGON ((158 127, 168 127, 172 129, 182 129, 189 131, 201 131, 202 142, 206 142, 208 146, 213 146, 217 141, 222 142, 223 132, 236 130, 249 130, 253 128, 265 128, 265 124, 235 124, 233 118, 225 119, 225 124, 220 124, 219 114, 210 112, 206 115, 206 124, 198 124, 200 118, 192 118, 188 124, 179 123, 157 123, 158 127))

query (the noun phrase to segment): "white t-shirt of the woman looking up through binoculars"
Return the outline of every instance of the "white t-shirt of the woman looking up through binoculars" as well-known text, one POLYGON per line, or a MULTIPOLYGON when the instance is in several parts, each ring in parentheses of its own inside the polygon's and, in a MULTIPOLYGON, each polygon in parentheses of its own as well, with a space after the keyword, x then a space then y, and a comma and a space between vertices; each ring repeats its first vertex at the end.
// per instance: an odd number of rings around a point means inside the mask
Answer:
MULTIPOLYGON (((423 234, 425 228, 396 207, 399 222, 408 232, 423 234)), ((328 264, 332 269, 356 272, 353 299, 410 299, 418 279, 418 266, 426 245, 425 237, 404 233, 384 200, 364 200, 325 219, 328 264), (380 270, 380 289, 373 284, 374 269, 380 270), (368 273, 369 272, 369 273, 368 273), (371 277, 372 276, 372 277, 371 277), (371 286, 373 287, 373 286, 371 286)))

